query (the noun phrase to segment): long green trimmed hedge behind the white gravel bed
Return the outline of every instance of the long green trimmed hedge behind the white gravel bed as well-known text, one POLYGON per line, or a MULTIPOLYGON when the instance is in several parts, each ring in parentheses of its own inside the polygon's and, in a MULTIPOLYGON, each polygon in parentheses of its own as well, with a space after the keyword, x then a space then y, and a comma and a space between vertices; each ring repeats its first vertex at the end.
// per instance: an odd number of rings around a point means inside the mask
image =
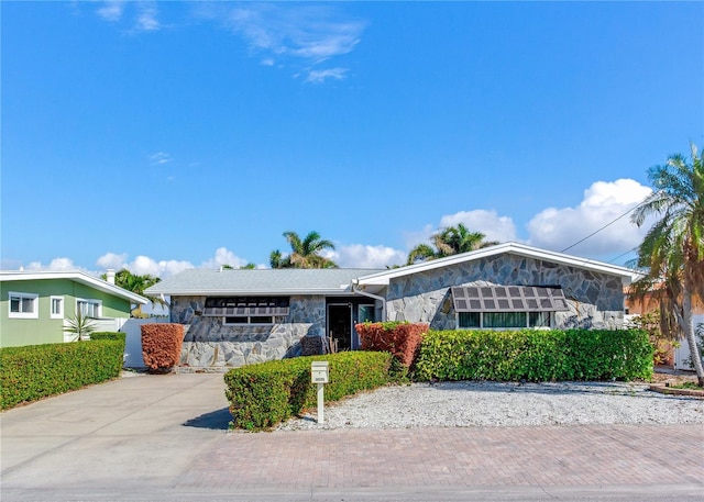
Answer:
POLYGON ((631 380, 652 377, 641 330, 431 331, 417 380, 631 380))

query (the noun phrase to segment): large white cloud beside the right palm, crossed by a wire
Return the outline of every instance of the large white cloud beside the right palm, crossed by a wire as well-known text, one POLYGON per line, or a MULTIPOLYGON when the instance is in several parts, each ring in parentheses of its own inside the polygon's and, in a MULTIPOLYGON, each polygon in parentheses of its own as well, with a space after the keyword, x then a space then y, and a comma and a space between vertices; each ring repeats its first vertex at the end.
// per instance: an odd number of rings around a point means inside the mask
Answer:
MULTIPOLYGON (((650 192, 632 179, 596 181, 578 207, 548 208, 534 216, 528 223, 529 244, 562 250, 624 215, 650 192)), ((569 253, 587 257, 624 253, 642 242, 647 227, 637 227, 626 214, 569 253)))

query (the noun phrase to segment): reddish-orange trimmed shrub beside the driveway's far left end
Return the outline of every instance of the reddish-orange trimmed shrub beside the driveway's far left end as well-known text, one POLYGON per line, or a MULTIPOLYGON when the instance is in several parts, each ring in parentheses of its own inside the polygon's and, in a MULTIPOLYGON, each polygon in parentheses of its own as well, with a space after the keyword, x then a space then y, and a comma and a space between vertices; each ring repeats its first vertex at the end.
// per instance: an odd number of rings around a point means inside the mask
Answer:
POLYGON ((180 362, 184 325, 176 323, 143 324, 142 357, 152 371, 174 368, 180 362))

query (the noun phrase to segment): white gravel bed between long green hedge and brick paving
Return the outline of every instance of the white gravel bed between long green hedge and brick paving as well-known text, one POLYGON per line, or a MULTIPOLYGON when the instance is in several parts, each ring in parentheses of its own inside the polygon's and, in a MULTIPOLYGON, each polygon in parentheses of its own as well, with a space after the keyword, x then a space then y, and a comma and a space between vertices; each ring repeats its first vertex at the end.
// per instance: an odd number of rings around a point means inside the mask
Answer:
POLYGON ((704 424, 704 400, 645 383, 439 382, 385 387, 327 403, 277 427, 409 428, 566 424, 704 424))

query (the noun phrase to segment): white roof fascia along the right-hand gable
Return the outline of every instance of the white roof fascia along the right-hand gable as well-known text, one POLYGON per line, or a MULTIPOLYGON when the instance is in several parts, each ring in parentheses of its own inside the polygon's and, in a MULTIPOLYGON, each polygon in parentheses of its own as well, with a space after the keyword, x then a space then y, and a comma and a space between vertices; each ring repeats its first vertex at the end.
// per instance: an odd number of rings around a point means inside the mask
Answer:
POLYGON ((598 271, 610 276, 618 276, 622 278, 624 286, 628 286, 631 280, 639 277, 636 270, 631 270, 626 267, 619 267, 617 265, 606 264, 604 261, 597 261, 586 258, 580 258, 572 255, 564 255, 562 253, 550 252, 540 249, 537 247, 526 246, 518 243, 504 243, 496 246, 484 247, 482 249, 462 253, 460 255, 448 256, 447 258, 438 258, 429 261, 424 261, 416 265, 407 265, 405 267, 395 268, 388 271, 382 271, 380 274, 372 274, 359 278, 360 286, 388 286, 391 279, 397 277, 408 276, 413 274, 424 272, 427 270, 433 270, 436 268, 448 267, 451 265, 461 264, 464 261, 474 261, 476 259, 486 258, 490 256, 501 255, 509 253, 513 255, 524 256, 527 258, 542 259, 546 261, 553 261, 562 265, 570 265, 578 268, 584 268, 587 270, 598 271))

